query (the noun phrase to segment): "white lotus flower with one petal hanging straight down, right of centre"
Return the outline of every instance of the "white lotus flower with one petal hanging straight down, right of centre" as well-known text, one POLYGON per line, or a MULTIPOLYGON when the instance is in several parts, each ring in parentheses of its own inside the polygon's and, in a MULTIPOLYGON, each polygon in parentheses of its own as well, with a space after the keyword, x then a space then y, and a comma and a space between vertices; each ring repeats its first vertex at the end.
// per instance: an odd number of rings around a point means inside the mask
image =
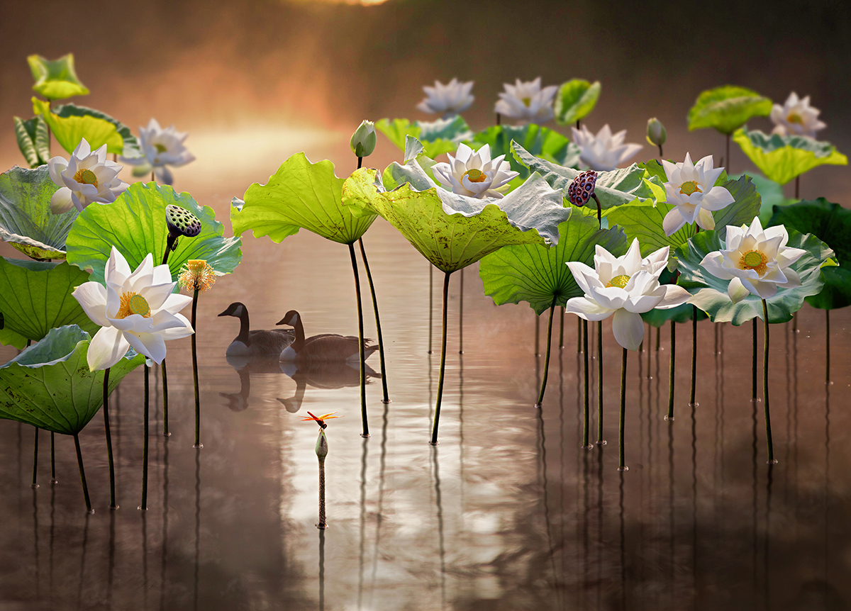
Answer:
POLYGON ((666 310, 691 298, 683 287, 659 283, 667 265, 668 249, 665 246, 642 259, 635 239, 622 257, 614 257, 598 245, 593 270, 584 263, 568 261, 570 272, 585 296, 568 300, 564 311, 591 321, 614 314, 614 339, 627 350, 638 350, 644 339, 642 312, 654 308, 666 310))

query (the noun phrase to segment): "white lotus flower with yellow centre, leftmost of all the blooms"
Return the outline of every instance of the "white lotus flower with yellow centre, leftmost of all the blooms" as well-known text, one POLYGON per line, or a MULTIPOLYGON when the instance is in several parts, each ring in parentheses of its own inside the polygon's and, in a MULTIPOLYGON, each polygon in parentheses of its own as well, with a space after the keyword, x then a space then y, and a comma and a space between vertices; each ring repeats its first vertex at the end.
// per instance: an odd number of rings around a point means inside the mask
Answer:
POLYGON ((62 214, 71 207, 83 212, 92 202, 114 202, 128 187, 118 178, 123 167, 106 159, 106 145, 92 152, 89 142, 83 138, 70 160, 65 157, 48 160, 50 178, 62 187, 50 198, 50 212, 62 214))

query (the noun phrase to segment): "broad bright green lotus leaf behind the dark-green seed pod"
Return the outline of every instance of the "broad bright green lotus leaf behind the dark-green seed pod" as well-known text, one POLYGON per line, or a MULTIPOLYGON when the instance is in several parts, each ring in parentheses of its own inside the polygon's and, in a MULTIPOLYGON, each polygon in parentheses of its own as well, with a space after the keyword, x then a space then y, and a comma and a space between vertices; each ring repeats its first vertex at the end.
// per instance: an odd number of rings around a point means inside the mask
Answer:
MULTIPOLYGON (((155 182, 130 185, 113 203, 91 204, 83 209, 68 234, 68 262, 91 271, 91 280, 104 282, 104 267, 115 246, 134 270, 148 253, 154 265, 163 260, 168 227, 165 208, 174 204, 189 210, 201 221, 197 237, 180 237, 168 255, 168 269, 177 280, 180 268, 190 259, 203 259, 219 274, 239 265, 243 252, 238 237, 224 237, 225 226, 215 220, 209 206, 199 206, 189 193, 177 193, 155 182)), ((177 290, 177 287, 174 288, 177 290)))

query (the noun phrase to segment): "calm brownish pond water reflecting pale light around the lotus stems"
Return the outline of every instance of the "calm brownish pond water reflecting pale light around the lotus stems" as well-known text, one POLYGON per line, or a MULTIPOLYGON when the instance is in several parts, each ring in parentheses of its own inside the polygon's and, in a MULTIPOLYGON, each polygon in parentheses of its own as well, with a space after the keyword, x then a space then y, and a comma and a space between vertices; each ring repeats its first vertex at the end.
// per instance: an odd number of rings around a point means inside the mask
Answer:
MULTIPOLYGON (((494 307, 475 268, 464 277, 463 355, 460 274, 451 285, 440 444, 432 448, 439 354, 427 354, 428 267, 381 220, 365 244, 379 291, 392 399, 380 402, 380 380, 368 385, 372 437, 359 436, 353 370, 294 379, 274 362, 239 371, 227 362, 238 322, 216 314, 233 300, 248 305, 254 328, 271 328, 297 309, 307 334, 357 333, 345 246, 304 231, 280 245, 247 237, 237 273, 221 278, 199 302, 200 451, 191 447, 189 342, 169 345, 173 436, 151 435, 149 511, 136 510, 141 370, 112 396, 118 511, 107 506, 100 415, 81 434, 96 510, 90 517, 71 438, 56 437, 59 483, 50 485, 49 435, 42 433, 41 487, 33 491, 32 429, 0 421, 0 608, 848 606, 848 309, 831 317, 830 386, 824 382, 824 312, 806 306, 797 334, 791 323, 771 329, 770 398, 780 460, 771 469, 762 404, 755 411, 750 402, 750 325, 724 325, 719 355, 713 327, 700 323, 696 408, 687 404, 691 337, 687 326, 678 328, 672 424, 662 418, 669 355, 663 329, 661 351, 630 355, 630 471, 621 474, 620 347, 609 326, 603 341, 609 443, 589 452, 580 449, 575 318, 565 318, 566 346, 553 351, 544 407, 536 410, 543 357, 534 357, 534 316, 525 306, 494 307), (307 410, 345 416, 328 421, 325 531, 314 526, 317 426, 300 421, 307 410)), ((436 273, 436 323, 440 279, 436 273)), ((372 311, 365 314, 367 334, 374 336, 372 311)), ((543 345, 544 317, 541 323, 543 345)), ((435 349, 438 340, 436 326, 435 349)), ((13 354, 0 351, 3 359, 13 354)), ((369 363, 379 369, 377 355, 369 363)), ((160 432, 158 391, 152 399, 151 428, 160 432)))

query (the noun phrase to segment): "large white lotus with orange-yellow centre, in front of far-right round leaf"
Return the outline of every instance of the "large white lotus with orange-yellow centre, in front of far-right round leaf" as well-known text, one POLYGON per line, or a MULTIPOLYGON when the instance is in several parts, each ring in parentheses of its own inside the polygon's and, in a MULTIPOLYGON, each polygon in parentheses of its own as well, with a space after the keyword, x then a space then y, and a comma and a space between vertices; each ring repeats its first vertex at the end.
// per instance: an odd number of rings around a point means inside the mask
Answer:
POLYGON ((784 226, 763 231, 757 216, 750 227, 727 226, 727 250, 707 254, 700 266, 712 276, 730 281, 727 294, 733 303, 748 294, 767 300, 778 288, 801 285, 797 271, 790 266, 807 251, 787 247, 788 241, 784 226))

